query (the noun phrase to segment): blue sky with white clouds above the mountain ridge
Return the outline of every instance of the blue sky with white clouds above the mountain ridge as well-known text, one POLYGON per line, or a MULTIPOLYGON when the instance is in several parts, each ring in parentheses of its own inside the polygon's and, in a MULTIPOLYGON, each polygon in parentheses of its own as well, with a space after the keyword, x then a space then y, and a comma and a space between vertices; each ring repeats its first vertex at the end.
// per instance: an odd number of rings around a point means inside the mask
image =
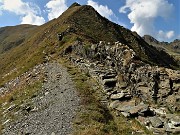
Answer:
POLYGON ((0 27, 42 25, 72 3, 93 6, 102 16, 160 41, 180 39, 180 0, 0 0, 0 27))

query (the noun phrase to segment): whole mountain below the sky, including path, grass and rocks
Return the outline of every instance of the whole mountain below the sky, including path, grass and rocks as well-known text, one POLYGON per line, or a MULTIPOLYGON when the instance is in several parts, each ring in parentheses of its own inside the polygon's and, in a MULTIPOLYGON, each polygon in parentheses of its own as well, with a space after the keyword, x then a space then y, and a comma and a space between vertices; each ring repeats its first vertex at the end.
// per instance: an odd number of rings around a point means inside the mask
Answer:
POLYGON ((179 59, 159 44, 78 3, 0 28, 0 133, 180 134, 179 59))

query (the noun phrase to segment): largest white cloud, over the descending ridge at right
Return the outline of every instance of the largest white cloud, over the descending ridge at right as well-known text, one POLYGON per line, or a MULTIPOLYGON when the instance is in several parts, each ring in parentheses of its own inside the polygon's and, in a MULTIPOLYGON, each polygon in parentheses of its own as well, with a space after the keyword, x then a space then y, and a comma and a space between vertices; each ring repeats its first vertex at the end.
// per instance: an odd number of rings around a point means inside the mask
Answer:
POLYGON ((128 18, 134 24, 131 30, 136 31, 141 36, 149 34, 156 36, 156 38, 161 36, 161 38, 170 39, 174 33, 156 30, 154 21, 157 17, 168 18, 173 8, 173 5, 167 0, 126 0, 126 5, 121 7, 119 12, 128 13, 128 18))

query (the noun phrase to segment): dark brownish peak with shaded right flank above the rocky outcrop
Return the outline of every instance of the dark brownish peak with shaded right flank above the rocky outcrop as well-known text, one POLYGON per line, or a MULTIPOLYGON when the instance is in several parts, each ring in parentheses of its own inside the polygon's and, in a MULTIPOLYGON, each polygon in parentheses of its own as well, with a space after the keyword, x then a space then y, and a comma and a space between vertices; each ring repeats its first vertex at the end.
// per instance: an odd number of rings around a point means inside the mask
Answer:
MULTIPOLYGON (((73 33, 74 38, 77 37, 82 42, 98 43, 99 41, 106 41, 112 43, 119 41, 133 49, 138 58, 144 62, 163 66, 176 65, 168 54, 160 53, 155 47, 149 46, 137 33, 133 33, 101 16, 92 6, 72 4, 71 8, 59 17, 59 22, 65 22, 61 26, 63 29, 56 29, 60 34, 69 33, 71 28, 73 29, 71 34, 73 33), (158 59, 155 59, 155 57, 158 59), (164 57, 167 57, 167 59, 164 60, 164 57)), ((68 34, 64 35, 64 37, 66 36, 69 36, 68 38, 72 37, 68 34)), ((155 39, 154 41, 158 42, 155 39)))

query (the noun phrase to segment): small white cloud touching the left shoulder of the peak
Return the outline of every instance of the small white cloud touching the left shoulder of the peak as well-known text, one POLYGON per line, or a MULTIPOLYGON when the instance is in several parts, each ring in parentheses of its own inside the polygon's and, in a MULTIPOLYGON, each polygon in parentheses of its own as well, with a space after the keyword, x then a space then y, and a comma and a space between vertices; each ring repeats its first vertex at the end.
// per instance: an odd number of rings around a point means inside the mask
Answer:
POLYGON ((45 7, 48 11, 49 20, 59 17, 68 8, 66 0, 50 0, 45 7))

